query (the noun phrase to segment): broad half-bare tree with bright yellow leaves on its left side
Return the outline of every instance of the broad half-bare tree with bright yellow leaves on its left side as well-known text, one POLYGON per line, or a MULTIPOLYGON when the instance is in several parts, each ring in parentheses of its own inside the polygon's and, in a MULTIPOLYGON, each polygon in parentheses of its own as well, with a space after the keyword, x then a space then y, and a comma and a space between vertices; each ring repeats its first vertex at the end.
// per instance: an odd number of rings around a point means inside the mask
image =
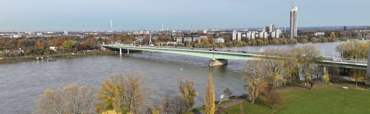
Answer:
POLYGON ((147 76, 140 71, 111 74, 110 79, 102 83, 97 113, 114 110, 117 113, 138 114, 152 92, 142 87, 146 81, 147 76))

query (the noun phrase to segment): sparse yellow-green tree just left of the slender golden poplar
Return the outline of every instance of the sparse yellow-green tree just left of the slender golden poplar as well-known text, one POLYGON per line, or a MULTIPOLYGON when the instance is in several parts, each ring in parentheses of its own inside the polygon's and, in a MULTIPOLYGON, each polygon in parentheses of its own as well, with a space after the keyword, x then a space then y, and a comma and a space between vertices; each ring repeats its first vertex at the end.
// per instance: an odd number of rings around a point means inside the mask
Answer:
POLYGON ((184 81, 183 78, 178 78, 177 81, 179 93, 185 98, 186 110, 189 110, 195 103, 194 98, 198 96, 198 92, 194 88, 194 80, 186 78, 184 81))

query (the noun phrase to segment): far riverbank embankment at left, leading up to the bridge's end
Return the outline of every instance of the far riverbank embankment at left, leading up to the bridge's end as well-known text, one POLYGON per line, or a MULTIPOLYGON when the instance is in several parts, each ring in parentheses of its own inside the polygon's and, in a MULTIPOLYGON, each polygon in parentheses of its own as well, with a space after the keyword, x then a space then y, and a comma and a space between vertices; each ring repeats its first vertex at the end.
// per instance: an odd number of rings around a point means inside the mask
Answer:
POLYGON ((47 58, 69 58, 69 57, 82 57, 82 56, 95 56, 95 55, 108 55, 116 54, 115 51, 98 51, 92 53, 80 53, 80 54, 54 54, 54 55, 40 55, 40 56, 30 56, 30 57, 14 57, 14 58, 4 58, 0 60, 1 63, 12 63, 12 62, 21 62, 21 61, 34 61, 34 60, 47 60, 47 58), (49 57, 47 57, 49 56, 49 57), (38 59, 36 58, 38 57, 38 59), (41 58, 43 57, 43 58, 41 58))

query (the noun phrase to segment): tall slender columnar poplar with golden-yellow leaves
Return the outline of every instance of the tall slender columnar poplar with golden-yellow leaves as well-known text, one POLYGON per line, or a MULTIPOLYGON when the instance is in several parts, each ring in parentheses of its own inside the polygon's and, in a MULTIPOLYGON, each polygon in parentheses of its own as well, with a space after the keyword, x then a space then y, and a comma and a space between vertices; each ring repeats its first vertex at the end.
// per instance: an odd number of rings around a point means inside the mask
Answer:
POLYGON ((214 114, 216 109, 215 109, 215 89, 213 88, 212 73, 208 74, 208 83, 206 86, 204 102, 206 114, 214 114))

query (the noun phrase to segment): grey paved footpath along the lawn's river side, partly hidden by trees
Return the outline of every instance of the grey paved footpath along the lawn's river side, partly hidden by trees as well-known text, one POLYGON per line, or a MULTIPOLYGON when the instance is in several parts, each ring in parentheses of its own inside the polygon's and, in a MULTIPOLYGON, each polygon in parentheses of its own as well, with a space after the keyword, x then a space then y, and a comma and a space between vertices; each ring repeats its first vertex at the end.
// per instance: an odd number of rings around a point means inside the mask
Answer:
MULTIPOLYGON (((297 87, 291 87, 291 88, 285 88, 285 89, 281 89, 281 90, 275 90, 276 92, 283 92, 283 91, 290 91, 290 90, 295 90, 295 89, 299 89, 299 88, 308 88, 310 87, 310 85, 305 85, 305 86, 297 86, 297 87)), ((260 95, 260 97, 263 96, 263 95, 260 95)), ((226 108, 226 107, 230 107, 232 105, 236 105, 236 104, 240 104, 242 102, 245 102, 245 101, 249 101, 249 98, 243 98, 241 100, 236 100, 236 101, 233 101, 233 102, 230 102, 230 103, 226 103, 226 104, 222 104, 222 105, 219 105, 217 106, 216 108, 217 109, 220 109, 221 107, 222 108, 226 108)), ((202 110, 202 111, 199 111, 199 112, 196 112, 194 114, 205 114, 205 110, 202 110)))

